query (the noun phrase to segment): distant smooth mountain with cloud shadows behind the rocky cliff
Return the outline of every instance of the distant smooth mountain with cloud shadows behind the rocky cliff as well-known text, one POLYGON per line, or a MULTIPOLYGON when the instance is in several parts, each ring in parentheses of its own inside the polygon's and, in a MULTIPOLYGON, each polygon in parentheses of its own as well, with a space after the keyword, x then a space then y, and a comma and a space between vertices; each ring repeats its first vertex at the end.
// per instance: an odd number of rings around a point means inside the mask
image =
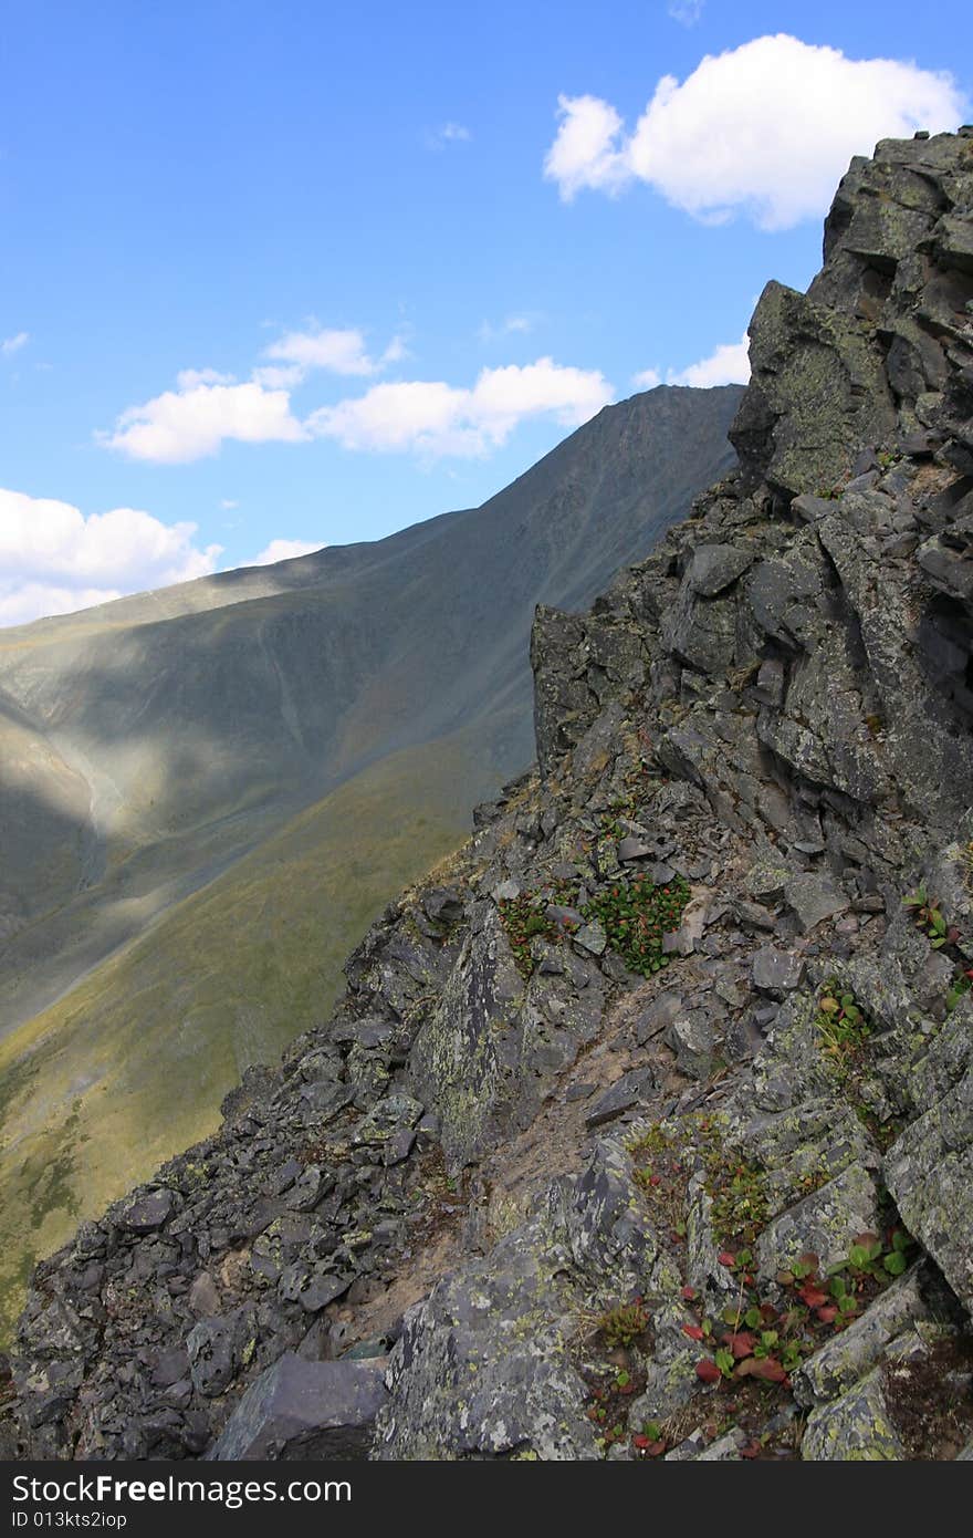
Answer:
POLYGON ((535 604, 586 604, 686 514, 739 394, 610 406, 380 543, 0 632, 12 1298, 327 1014, 369 921, 529 761, 535 604))

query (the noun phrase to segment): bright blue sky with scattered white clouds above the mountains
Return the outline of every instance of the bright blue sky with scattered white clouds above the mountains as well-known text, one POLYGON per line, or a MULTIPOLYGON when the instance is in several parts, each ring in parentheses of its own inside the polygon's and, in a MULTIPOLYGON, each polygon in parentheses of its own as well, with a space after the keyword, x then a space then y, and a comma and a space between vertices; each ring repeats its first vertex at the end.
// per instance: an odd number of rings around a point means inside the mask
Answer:
POLYGON ((8 6, 0 623, 477 504, 635 380, 739 375, 848 155, 973 112, 971 43, 961 0, 8 6))

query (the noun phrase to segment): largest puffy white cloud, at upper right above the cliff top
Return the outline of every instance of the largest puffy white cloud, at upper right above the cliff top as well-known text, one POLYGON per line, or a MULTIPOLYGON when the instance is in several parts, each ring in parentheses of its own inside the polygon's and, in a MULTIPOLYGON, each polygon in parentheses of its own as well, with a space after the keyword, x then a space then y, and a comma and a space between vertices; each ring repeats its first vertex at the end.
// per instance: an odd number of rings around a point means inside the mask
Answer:
POLYGON ((825 212, 852 155, 955 128, 964 112, 950 74, 778 34, 707 54, 682 83, 664 75, 632 134, 607 102, 560 97, 544 175, 567 201, 638 180, 701 220, 742 209, 761 229, 789 229, 825 212))

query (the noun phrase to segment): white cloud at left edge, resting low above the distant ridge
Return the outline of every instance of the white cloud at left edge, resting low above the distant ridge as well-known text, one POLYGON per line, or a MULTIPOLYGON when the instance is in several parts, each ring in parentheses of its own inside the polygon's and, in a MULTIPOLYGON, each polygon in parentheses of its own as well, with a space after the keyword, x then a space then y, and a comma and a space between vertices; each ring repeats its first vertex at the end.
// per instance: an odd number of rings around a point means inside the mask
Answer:
POLYGON ((201 549, 195 534, 195 523, 135 508, 85 517, 66 501, 0 489, 0 624, 204 577, 221 548, 201 549))

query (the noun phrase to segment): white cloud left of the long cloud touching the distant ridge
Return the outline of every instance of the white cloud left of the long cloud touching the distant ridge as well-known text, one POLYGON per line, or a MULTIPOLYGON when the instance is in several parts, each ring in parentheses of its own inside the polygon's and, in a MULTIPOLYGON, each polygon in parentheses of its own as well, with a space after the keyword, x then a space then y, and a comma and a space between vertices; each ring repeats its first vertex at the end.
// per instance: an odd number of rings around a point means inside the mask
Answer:
MULTIPOLYGON (((183 375, 184 378, 184 375, 183 375)), ((111 434, 100 434, 108 448, 132 460, 154 464, 186 464, 215 454, 227 438, 240 443, 300 443, 306 432, 291 414, 283 389, 261 384, 194 383, 166 391, 144 406, 123 411, 111 434)))

